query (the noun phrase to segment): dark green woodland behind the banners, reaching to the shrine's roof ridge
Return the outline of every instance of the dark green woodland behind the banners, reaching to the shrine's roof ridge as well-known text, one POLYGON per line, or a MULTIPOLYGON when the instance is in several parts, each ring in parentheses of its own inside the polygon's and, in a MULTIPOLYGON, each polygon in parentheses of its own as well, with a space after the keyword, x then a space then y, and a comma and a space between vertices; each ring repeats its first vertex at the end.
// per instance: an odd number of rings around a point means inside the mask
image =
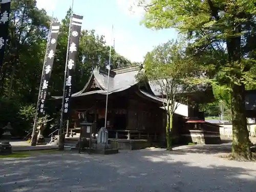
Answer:
MULTIPOLYGON (((62 20, 49 94, 62 95, 70 10, 62 20)), ((56 19, 56 18, 55 18, 56 19)), ((12 0, 8 44, 0 71, 0 129, 11 123, 16 135, 31 129, 52 18, 36 7, 35 0, 12 0)), ((80 91, 95 66, 109 61, 109 46, 95 30, 82 30, 73 92, 80 91)), ((114 68, 131 62, 112 49, 114 68)), ((46 102, 47 103, 47 102, 46 102)), ((54 111, 49 106, 48 111, 54 111)))

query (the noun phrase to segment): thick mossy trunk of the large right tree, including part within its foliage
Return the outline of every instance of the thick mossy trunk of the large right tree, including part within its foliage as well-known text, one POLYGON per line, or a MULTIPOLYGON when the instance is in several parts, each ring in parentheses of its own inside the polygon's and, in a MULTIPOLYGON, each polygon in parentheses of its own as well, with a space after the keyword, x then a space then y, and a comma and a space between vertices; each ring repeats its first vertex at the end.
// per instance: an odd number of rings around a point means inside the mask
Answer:
POLYGON ((241 82, 241 29, 238 24, 236 28, 229 31, 227 38, 228 59, 231 67, 231 76, 235 80, 230 81, 230 103, 232 114, 232 153, 231 158, 236 160, 251 160, 249 132, 247 129, 247 120, 245 115, 245 86, 241 82), (236 84, 234 81, 239 81, 236 84))

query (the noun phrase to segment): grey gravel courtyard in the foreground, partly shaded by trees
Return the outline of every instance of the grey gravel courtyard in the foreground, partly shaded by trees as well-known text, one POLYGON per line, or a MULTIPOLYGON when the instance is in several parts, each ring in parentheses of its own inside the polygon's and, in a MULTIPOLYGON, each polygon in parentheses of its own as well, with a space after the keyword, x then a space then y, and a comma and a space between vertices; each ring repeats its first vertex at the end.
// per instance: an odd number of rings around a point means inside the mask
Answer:
POLYGON ((1 192, 255 191, 256 163, 219 158, 228 144, 120 151, 102 156, 63 152, 0 159, 1 192))

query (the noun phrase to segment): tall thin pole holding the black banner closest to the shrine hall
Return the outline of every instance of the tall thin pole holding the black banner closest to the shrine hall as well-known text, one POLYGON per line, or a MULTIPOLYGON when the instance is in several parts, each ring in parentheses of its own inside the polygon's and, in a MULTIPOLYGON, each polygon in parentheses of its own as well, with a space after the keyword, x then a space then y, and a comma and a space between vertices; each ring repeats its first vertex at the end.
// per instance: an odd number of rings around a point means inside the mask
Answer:
MULTIPOLYGON (((59 137, 62 136, 62 126, 63 126, 63 115, 64 115, 64 103, 65 103, 65 90, 66 90, 66 81, 67 81, 67 69, 68 69, 68 57, 69 57, 69 44, 70 44, 70 32, 71 32, 71 24, 72 24, 72 17, 73 17, 73 6, 74 0, 72 0, 72 7, 70 13, 70 23, 69 23, 69 35, 68 35, 68 46, 67 46, 67 54, 66 54, 66 65, 65 65, 65 74, 64 74, 64 81, 63 81, 63 94, 62 94, 62 105, 61 105, 61 114, 60 114, 60 124, 59 124, 59 137), (60 133, 61 132, 61 133, 60 133)), ((61 146, 61 139, 59 138, 59 150, 62 150, 61 146)), ((63 146, 64 147, 64 146, 63 146)))

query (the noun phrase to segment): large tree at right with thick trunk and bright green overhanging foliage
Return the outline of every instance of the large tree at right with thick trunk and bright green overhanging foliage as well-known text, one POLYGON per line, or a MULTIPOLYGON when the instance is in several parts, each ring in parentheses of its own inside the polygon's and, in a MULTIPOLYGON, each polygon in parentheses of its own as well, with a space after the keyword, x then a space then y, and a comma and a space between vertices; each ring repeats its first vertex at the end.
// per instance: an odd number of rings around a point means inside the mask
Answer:
POLYGON ((244 91, 246 84, 255 83, 255 5, 255 0, 153 0, 145 6, 144 25, 180 30, 189 40, 194 61, 210 72, 209 77, 214 75, 211 82, 225 84, 230 91, 231 156, 238 160, 252 159, 244 91), (205 55, 215 60, 202 62, 205 55))

